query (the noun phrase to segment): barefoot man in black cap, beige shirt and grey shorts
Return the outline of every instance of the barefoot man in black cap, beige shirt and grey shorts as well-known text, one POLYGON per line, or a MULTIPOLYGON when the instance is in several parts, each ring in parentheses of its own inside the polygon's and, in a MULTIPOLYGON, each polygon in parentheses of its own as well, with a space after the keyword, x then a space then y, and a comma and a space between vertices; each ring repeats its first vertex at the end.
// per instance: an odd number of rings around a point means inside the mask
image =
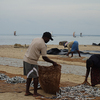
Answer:
POLYGON ((28 95, 33 95, 34 97, 41 96, 39 93, 37 93, 38 78, 39 78, 37 61, 40 55, 42 55, 42 58, 45 61, 52 63, 54 66, 57 66, 56 62, 50 60, 46 56, 47 47, 45 43, 48 43, 49 40, 53 40, 51 33, 49 32, 43 33, 42 38, 33 39, 32 43, 27 49, 27 52, 25 53, 23 59, 24 75, 27 75, 25 96, 28 95), (29 92, 32 78, 34 79, 34 94, 29 92))

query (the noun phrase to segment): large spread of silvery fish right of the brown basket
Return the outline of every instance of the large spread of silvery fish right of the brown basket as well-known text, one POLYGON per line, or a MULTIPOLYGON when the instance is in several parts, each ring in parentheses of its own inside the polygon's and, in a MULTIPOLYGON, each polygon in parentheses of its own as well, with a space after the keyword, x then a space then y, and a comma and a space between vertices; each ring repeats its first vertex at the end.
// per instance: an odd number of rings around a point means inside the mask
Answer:
POLYGON ((55 100, 92 100, 96 97, 100 97, 100 88, 82 84, 74 87, 60 87, 56 96, 47 98, 55 100))

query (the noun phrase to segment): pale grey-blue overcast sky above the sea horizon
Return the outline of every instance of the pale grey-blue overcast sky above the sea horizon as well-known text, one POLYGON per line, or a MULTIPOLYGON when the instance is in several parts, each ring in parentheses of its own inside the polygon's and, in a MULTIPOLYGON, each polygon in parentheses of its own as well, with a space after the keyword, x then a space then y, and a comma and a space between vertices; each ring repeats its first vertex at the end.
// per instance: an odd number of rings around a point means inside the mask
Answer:
POLYGON ((100 0, 0 0, 0 34, 100 35, 100 0))

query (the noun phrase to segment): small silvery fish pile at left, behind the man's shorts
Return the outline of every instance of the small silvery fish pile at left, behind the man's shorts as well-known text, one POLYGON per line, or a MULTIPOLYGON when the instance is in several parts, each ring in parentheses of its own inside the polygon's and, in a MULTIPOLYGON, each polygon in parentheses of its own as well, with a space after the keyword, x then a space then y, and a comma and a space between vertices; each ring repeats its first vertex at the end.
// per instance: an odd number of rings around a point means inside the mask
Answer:
POLYGON ((26 80, 20 76, 15 76, 10 78, 9 76, 6 76, 5 74, 0 73, 0 80, 6 80, 6 83, 26 83, 26 80))

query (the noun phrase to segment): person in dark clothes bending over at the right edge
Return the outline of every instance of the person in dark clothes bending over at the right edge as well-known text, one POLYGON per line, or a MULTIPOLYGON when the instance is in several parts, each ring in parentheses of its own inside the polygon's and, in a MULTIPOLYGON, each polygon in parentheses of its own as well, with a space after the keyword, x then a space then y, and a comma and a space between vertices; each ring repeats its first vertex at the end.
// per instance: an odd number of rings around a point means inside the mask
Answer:
POLYGON ((91 71, 91 85, 100 84, 100 54, 94 54, 86 61, 86 76, 83 84, 89 84, 87 78, 91 71))

